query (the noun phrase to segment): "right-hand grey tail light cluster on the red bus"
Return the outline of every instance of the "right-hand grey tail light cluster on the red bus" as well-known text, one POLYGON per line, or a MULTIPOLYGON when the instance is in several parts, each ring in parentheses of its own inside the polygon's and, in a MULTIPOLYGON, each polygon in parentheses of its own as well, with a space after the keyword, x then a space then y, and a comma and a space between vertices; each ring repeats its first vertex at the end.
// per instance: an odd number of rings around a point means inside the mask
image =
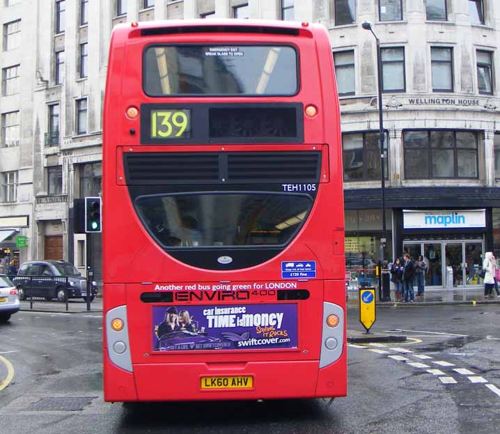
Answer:
POLYGON ((320 369, 336 362, 341 357, 343 348, 344 311, 338 304, 323 302, 320 369))

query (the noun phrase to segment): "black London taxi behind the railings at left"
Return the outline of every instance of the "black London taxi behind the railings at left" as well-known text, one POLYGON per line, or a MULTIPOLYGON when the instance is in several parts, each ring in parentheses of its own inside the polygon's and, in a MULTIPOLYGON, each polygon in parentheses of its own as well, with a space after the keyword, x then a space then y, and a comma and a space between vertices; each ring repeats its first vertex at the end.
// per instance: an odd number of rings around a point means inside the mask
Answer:
MULTIPOLYGON (((65 302, 66 297, 82 297, 87 300, 87 281, 66 261, 29 261, 19 268, 13 279, 17 286, 19 300, 26 297, 45 297, 47 301, 56 298, 65 302)), ((91 283, 91 301, 97 294, 97 284, 91 283)))

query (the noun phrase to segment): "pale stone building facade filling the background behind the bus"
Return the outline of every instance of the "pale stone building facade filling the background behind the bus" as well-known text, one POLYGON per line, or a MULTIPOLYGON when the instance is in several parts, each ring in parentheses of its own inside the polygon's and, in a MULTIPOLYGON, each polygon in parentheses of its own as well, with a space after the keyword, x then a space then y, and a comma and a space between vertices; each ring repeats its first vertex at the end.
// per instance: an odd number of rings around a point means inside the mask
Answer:
MULTIPOLYGON (((64 258, 84 270, 73 203, 101 191, 102 101, 119 22, 254 18, 328 29, 341 96, 346 265, 382 238, 377 45, 385 132, 386 255, 427 284, 479 284, 500 257, 500 3, 496 0, 1 0, 0 270, 64 258), (22 238, 26 244, 22 241, 22 238), (19 238, 19 240, 18 240, 19 238), (26 247, 21 247, 26 245, 26 247)), ((92 265, 100 278, 100 237, 92 265)))

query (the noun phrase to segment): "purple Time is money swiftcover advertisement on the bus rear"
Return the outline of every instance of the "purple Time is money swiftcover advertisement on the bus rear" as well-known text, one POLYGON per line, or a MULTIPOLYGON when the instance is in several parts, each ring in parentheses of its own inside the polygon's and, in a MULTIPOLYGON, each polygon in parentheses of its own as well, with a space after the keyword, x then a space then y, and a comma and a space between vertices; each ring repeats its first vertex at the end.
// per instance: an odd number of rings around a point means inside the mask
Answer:
POLYGON ((297 304, 153 307, 153 350, 297 348, 297 304))

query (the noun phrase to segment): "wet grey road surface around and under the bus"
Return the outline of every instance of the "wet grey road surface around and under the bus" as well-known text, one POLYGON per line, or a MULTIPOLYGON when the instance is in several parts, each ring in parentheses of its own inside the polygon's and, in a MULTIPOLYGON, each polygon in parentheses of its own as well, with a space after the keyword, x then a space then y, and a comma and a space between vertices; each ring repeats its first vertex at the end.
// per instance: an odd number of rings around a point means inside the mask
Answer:
MULTIPOLYGON (((349 311, 349 327, 362 330, 357 316, 349 311)), ((349 346, 349 396, 329 408, 320 399, 104 403, 101 327, 95 313, 21 312, 0 325, 0 356, 14 369, 0 389, 2 433, 500 431, 499 306, 378 309, 374 331, 410 339, 349 346)), ((6 378, 0 359, 0 388, 6 378)))

